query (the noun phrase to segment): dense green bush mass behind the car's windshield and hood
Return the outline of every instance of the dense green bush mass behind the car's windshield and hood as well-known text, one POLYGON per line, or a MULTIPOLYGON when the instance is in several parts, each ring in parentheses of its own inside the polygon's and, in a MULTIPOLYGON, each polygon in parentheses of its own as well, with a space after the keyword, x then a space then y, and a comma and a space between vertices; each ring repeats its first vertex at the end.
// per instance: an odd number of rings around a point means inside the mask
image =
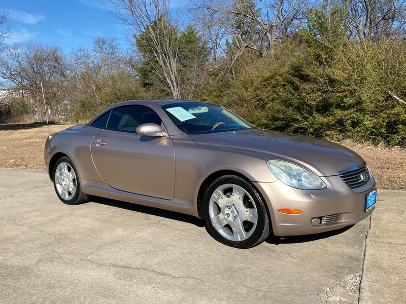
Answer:
POLYGON ((242 56, 235 78, 212 81, 196 97, 261 128, 406 143, 406 106, 388 93, 406 96, 405 42, 346 43, 328 62, 315 60, 306 47, 298 40, 266 58, 242 56))

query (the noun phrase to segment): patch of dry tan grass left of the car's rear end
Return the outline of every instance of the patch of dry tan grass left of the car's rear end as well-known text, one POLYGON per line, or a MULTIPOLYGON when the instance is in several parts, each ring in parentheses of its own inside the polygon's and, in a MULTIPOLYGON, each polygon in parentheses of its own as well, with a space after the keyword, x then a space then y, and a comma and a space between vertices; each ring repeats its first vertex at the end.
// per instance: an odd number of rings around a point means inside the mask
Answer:
MULTIPOLYGON (((72 125, 50 125, 51 133, 72 125)), ((45 169, 44 145, 48 127, 43 123, 0 125, 0 167, 45 169)))

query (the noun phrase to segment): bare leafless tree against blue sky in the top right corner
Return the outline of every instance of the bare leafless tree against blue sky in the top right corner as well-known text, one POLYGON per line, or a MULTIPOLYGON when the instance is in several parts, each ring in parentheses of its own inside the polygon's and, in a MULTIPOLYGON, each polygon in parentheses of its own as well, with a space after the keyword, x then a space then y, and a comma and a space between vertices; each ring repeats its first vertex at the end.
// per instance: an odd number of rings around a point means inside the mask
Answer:
POLYGON ((406 0, 352 0, 347 5, 350 33, 360 41, 406 32, 406 0))

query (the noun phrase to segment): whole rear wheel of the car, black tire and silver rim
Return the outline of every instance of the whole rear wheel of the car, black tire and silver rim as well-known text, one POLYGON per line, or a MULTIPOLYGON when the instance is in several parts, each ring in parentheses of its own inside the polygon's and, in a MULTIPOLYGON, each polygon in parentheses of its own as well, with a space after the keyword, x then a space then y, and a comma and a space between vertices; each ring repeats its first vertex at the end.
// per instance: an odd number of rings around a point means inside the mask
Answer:
POLYGON ((62 157, 56 162, 53 182, 55 192, 64 204, 77 205, 90 200, 90 196, 82 192, 75 166, 68 157, 62 157))

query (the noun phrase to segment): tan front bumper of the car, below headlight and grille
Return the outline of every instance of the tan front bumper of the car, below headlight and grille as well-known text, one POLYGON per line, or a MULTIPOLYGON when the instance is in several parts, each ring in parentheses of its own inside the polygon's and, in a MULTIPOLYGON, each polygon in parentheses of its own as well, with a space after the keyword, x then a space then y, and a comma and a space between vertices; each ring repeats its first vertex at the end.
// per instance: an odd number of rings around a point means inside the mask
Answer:
POLYGON ((322 177, 327 188, 300 190, 281 181, 254 182, 268 206, 273 232, 276 236, 294 236, 321 233, 355 224, 368 217, 375 206, 365 212, 365 195, 375 188, 373 177, 362 192, 353 192, 340 176, 322 177), (281 208, 299 209, 301 214, 283 214, 281 208), (314 217, 337 215, 339 220, 315 227, 314 217))

